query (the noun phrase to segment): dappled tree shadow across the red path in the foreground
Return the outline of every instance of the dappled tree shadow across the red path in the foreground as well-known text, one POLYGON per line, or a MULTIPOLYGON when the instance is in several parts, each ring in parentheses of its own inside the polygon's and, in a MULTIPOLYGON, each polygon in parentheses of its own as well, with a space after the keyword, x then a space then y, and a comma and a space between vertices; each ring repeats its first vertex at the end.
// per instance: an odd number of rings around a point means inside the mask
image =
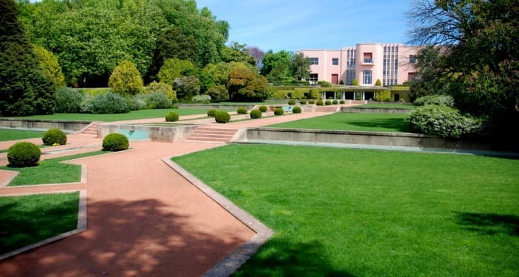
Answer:
POLYGON ((244 242, 156 199, 89 202, 88 229, 0 261, 2 276, 200 276, 244 242))

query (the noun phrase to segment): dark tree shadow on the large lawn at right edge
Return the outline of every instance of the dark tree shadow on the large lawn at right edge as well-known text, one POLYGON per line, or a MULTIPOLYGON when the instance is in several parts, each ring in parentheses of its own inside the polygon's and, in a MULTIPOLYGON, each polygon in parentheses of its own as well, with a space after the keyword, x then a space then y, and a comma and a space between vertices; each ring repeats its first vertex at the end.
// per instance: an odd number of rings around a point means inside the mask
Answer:
POLYGON ((519 235, 519 216, 497 215, 495 213, 458 213, 455 212, 457 223, 468 231, 484 235, 519 235))

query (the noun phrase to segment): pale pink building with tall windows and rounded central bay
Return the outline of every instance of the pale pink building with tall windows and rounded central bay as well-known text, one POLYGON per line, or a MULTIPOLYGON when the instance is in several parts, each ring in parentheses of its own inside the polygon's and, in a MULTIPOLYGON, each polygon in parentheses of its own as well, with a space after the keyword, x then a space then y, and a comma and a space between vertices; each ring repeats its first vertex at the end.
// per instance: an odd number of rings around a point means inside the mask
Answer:
POLYGON ((401 84, 415 75, 413 64, 419 47, 403 44, 357 44, 341 50, 300 50, 311 62, 310 81, 361 86, 401 84))

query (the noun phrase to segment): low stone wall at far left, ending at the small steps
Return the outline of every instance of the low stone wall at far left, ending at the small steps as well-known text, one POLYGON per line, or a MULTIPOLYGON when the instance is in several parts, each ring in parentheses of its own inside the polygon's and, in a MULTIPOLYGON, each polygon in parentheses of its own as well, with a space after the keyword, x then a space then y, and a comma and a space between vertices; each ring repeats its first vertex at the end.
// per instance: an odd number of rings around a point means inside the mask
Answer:
POLYGON ((51 128, 58 128, 64 132, 78 132, 91 121, 79 120, 44 120, 44 119, 17 119, 17 118, 1 118, 0 127, 32 129, 38 131, 46 131, 51 128))

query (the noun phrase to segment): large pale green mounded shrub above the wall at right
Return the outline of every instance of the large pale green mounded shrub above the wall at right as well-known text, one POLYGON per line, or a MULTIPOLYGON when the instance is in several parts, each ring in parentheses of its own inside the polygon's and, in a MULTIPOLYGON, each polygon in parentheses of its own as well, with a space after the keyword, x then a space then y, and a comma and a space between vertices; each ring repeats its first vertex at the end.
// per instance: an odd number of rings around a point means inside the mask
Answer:
POLYGON ((417 107, 406 121, 417 132, 453 139, 474 134, 482 128, 482 120, 464 116, 457 109, 443 105, 417 107))

